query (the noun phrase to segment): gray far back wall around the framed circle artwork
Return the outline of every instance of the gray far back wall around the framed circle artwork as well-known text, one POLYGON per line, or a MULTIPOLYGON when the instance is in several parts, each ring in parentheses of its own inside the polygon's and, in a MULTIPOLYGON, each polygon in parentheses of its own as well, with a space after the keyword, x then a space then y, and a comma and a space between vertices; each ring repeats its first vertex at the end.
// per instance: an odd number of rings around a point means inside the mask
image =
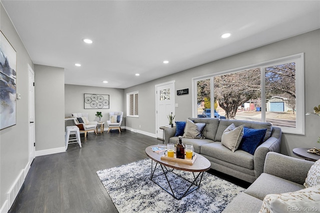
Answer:
MULTIPOLYGON (((102 112, 101 121, 106 121, 109 118, 109 111, 123 111, 123 107, 125 106, 123 98, 123 89, 118 88, 65 84, 64 95, 65 116, 71 116, 71 113, 73 112, 87 112, 89 121, 99 120, 99 118, 95 116, 95 113, 97 111, 102 112), (84 109, 84 93, 110 95, 110 107, 108 109, 84 109)), ((66 121, 66 124, 71 125, 72 121, 66 121)), ((124 124, 124 121, 122 121, 121 125, 124 124)), ((107 127, 106 123, 104 127, 107 127)))

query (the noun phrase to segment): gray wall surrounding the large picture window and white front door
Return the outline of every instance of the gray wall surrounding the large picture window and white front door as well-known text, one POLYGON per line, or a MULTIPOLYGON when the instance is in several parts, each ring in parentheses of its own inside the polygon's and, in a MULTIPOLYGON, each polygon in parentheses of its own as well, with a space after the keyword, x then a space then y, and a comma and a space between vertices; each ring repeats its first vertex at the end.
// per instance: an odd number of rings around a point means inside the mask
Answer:
MULTIPOLYGON (((290 37, 278 42, 270 43, 252 50, 212 61, 194 68, 171 74, 156 80, 142 83, 124 89, 127 92, 139 91, 139 117, 127 117, 128 127, 155 133, 155 84, 175 80, 175 90, 189 88, 189 94, 177 96, 175 102, 175 120, 185 120, 192 116, 192 78, 219 71, 237 68, 249 64, 267 61, 297 53, 305 53, 304 78, 305 78, 305 110, 311 111, 313 106, 320 104, 318 85, 320 82, 320 29, 301 35, 290 37), (139 128, 141 124, 141 128, 139 128)), ((318 147, 317 136, 320 136, 320 119, 317 116, 306 116, 305 135, 284 133, 281 142, 281 152, 294 156, 292 149, 295 147, 318 147)))

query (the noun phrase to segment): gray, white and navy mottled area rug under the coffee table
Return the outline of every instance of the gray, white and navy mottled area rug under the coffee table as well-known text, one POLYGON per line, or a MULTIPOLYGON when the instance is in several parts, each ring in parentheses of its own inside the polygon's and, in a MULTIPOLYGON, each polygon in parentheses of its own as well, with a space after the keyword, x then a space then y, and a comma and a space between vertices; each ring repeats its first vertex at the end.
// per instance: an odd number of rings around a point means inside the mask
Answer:
MULTIPOLYGON (((153 162, 153 166, 155 163, 153 162)), ((162 172, 157 166, 155 174, 162 172)), ((192 172, 174 170, 186 179, 193 180, 192 172)), ((119 212, 221 212, 244 188, 203 173, 200 187, 180 200, 150 180, 151 159, 142 159, 125 165, 102 169, 96 172, 119 212)), ((174 190, 186 185, 182 178, 167 175, 174 190)), ((164 175, 156 182, 167 187, 164 175)), ((180 193, 179 190, 176 193, 180 193)))

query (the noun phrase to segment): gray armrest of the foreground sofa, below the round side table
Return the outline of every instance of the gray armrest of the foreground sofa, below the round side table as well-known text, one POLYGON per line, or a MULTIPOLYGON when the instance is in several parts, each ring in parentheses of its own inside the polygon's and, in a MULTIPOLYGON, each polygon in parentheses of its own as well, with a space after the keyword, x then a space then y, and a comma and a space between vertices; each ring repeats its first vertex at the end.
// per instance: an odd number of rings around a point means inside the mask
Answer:
POLYGON ((276 152, 268 152, 265 157, 263 172, 303 184, 313 163, 276 152))

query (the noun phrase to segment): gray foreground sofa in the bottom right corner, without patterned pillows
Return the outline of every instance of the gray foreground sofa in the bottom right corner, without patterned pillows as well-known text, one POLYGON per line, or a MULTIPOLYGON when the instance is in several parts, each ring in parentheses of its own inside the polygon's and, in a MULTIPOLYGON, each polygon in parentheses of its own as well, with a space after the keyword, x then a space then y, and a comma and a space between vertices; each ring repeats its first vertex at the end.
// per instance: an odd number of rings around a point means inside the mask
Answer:
MULTIPOLYGON (((265 195, 294 192, 305 188, 303 183, 313 163, 268 152, 263 173, 244 192, 239 193, 222 212, 259 212, 265 195)), ((274 210, 273 212, 289 212, 274 210)))

